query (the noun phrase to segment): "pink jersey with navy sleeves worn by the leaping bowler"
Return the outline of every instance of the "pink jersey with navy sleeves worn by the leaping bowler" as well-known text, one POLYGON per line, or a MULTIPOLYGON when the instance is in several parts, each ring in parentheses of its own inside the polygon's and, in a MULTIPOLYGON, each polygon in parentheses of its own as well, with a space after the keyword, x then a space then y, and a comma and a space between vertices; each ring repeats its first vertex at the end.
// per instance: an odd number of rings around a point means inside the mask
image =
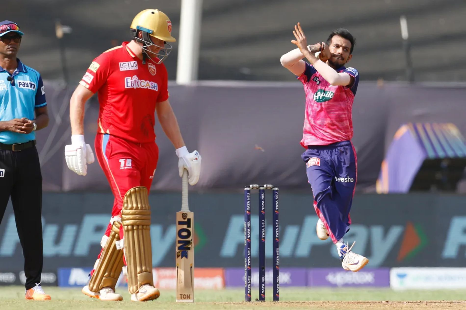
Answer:
POLYGON ((353 137, 351 110, 359 74, 352 67, 340 67, 336 71, 353 76, 354 84, 350 88, 331 86, 308 63, 306 63, 304 73, 298 77, 306 93, 306 111, 301 140, 304 148, 308 145, 328 145, 347 141, 353 137))

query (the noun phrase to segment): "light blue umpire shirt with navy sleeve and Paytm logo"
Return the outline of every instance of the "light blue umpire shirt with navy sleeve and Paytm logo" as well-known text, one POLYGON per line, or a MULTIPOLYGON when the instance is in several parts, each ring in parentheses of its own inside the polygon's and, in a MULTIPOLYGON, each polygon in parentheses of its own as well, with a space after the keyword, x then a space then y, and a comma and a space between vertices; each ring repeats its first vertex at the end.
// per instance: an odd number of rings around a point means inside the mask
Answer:
MULTIPOLYGON (((39 72, 25 66, 19 59, 13 74, 0 67, 0 121, 26 117, 34 120, 34 109, 45 107, 44 83, 39 72), (11 81, 7 77, 12 78, 11 81)), ((0 142, 5 144, 24 143, 35 139, 35 131, 19 134, 0 131, 0 142)))

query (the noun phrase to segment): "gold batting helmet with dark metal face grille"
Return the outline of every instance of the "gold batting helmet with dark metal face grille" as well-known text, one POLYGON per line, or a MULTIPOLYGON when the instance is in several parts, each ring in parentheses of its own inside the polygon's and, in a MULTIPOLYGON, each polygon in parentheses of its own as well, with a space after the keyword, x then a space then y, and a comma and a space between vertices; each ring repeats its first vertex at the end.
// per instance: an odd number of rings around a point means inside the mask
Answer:
MULTIPOLYGON (((130 30, 134 40, 142 43, 144 56, 149 57, 152 61, 158 64, 164 61, 171 52, 172 47, 167 42, 176 41, 176 39, 171 36, 170 19, 165 13, 157 9, 147 9, 137 13, 131 23, 130 30), (142 38, 139 38, 139 32, 142 32, 142 38), (164 46, 154 44, 151 37, 163 40, 164 46), (160 51, 158 53, 151 52, 148 47, 152 45, 160 47, 160 51), (151 55, 157 56, 158 61, 153 59, 151 55)), ((145 62, 144 58, 143 62, 145 62)))

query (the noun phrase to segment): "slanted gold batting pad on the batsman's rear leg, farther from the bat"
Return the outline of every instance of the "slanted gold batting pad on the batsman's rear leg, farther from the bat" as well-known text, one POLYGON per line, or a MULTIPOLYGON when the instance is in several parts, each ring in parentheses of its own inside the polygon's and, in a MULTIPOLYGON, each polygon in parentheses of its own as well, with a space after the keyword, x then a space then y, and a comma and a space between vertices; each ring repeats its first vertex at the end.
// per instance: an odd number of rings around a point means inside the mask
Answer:
POLYGON ((123 250, 117 249, 116 242, 120 240, 120 222, 113 222, 110 236, 103 247, 96 270, 89 281, 89 290, 98 292, 104 287, 115 291, 118 277, 123 268, 123 250))

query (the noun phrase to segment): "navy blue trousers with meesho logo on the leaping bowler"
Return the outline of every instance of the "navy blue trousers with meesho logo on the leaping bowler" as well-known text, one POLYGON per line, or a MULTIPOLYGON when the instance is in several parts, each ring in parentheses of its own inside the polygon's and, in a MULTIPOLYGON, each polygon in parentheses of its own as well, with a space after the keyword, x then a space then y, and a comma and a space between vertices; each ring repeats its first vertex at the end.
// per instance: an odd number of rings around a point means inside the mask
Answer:
POLYGON ((357 179, 356 151, 350 141, 311 145, 302 153, 314 195, 314 209, 337 243, 351 224, 349 211, 357 179))

